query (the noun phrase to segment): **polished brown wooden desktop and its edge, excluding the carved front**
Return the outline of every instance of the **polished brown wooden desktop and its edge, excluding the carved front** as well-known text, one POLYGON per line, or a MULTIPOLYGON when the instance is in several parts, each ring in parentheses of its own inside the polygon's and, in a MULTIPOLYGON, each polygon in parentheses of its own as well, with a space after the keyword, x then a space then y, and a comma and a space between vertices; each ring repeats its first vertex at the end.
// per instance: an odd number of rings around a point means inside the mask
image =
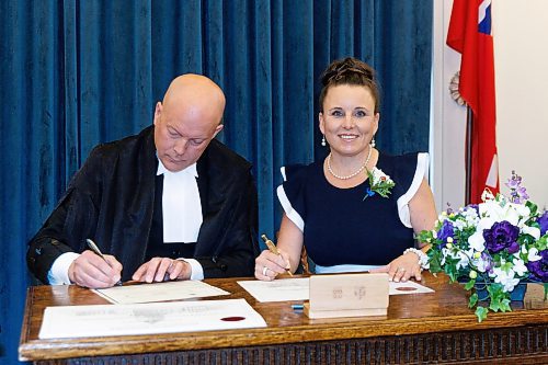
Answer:
MULTIPOLYGON (((250 278, 241 278, 250 280, 250 278)), ((292 304, 259 303, 237 283, 237 278, 207 280, 229 296, 219 299, 246 298, 265 319, 267 327, 259 329, 182 332, 155 335, 104 337, 85 339, 38 339, 44 308, 48 306, 109 304, 89 289, 70 286, 30 287, 23 319, 20 358, 27 361, 141 354, 203 349, 243 347, 441 333, 478 331, 548 323, 548 304, 543 300, 543 286, 530 285, 523 303, 512 303, 512 312, 492 313, 481 323, 468 309, 469 294, 458 284, 447 284, 447 276, 423 275, 422 284, 435 293, 390 296, 388 315, 370 318, 307 318, 294 311, 292 304)), ((210 300, 215 298, 206 298, 210 300)), ((545 345, 546 346, 546 345, 545 345)))

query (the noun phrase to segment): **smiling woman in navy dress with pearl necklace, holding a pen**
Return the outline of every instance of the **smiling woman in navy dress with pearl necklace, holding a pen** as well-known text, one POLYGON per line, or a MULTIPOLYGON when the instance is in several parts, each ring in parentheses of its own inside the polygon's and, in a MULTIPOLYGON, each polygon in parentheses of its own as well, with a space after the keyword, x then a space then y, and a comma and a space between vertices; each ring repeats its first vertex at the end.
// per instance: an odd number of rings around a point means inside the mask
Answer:
POLYGON ((396 282, 421 280, 427 247, 414 233, 433 229, 437 217, 427 153, 389 156, 375 148, 379 91, 367 64, 334 61, 321 81, 319 127, 330 153, 309 166, 282 168, 281 255, 263 251, 255 277, 295 272, 305 246, 317 273, 369 271, 396 282))

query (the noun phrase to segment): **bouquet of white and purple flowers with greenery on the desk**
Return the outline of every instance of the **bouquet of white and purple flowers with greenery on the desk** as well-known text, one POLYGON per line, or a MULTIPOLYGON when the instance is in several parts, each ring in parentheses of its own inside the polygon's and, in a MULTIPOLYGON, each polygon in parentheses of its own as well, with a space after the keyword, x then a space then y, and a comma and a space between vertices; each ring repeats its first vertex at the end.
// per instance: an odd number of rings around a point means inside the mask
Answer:
POLYGON ((548 293, 548 210, 539 213, 521 183, 512 172, 509 196, 486 190, 483 203, 456 212, 448 208, 434 230, 419 235, 432 244, 429 259, 434 275, 445 272, 452 283, 476 288, 469 307, 476 307, 480 322, 489 310, 512 310, 511 294, 521 283, 545 283, 545 299, 548 293), (479 305, 487 300, 488 307, 479 305))

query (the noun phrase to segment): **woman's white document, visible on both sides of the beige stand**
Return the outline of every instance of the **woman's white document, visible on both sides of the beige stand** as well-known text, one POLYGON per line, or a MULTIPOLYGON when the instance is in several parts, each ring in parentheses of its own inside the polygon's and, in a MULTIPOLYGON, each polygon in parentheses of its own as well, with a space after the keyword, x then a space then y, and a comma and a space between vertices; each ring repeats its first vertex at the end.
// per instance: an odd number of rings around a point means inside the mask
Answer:
MULTIPOLYGON (((246 281, 238 282, 259 301, 308 300, 308 277, 281 278, 272 282, 246 281)), ((390 282, 389 295, 434 293, 433 289, 415 282, 390 282)))

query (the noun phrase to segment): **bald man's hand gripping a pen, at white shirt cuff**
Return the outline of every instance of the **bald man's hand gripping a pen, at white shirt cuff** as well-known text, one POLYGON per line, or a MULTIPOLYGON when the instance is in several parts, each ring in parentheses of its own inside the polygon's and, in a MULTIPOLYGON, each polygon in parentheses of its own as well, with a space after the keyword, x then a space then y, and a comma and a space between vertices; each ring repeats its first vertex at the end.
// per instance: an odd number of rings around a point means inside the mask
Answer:
POLYGON ((89 288, 114 286, 122 276, 122 264, 110 254, 104 260, 93 251, 83 251, 69 266, 70 282, 89 288), (106 262, 105 262, 106 260, 106 262))

